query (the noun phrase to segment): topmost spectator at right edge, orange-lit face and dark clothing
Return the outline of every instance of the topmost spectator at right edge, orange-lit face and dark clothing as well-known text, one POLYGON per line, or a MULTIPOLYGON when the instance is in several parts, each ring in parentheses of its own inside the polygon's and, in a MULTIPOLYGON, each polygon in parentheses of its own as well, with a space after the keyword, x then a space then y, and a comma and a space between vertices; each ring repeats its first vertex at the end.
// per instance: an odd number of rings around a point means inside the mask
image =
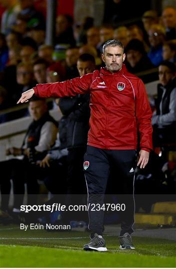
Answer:
POLYGON ((166 40, 176 39, 176 7, 165 7, 162 13, 162 19, 166 28, 166 40))

